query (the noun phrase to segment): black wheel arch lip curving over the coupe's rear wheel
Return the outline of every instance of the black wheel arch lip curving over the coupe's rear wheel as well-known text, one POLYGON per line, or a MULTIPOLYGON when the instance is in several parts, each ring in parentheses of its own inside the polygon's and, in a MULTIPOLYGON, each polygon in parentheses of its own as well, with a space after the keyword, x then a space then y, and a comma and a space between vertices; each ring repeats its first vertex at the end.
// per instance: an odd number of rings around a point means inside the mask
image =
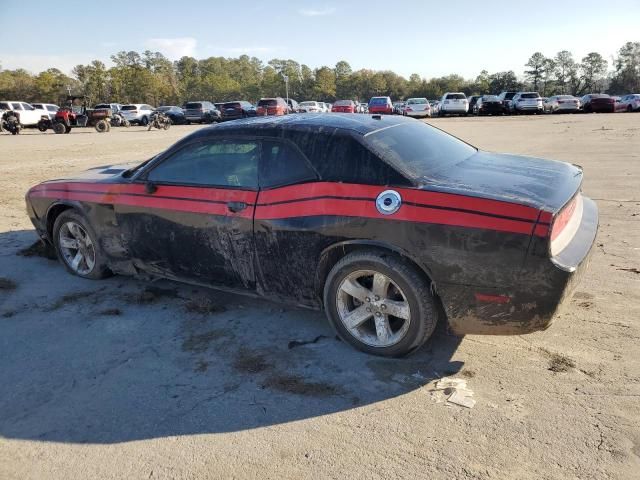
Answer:
POLYGON ((322 298, 324 284, 329 275, 329 272, 336 263, 349 253, 361 250, 377 250, 385 253, 393 253, 404 258, 406 261, 415 266, 418 271, 423 275, 425 281, 429 284, 429 288, 432 294, 440 301, 437 291, 436 280, 433 276, 431 269, 424 265, 424 263, 418 261, 414 256, 395 245, 391 245, 385 242, 378 242, 375 240, 345 240, 342 242, 334 243, 325 248, 321 253, 316 264, 316 274, 314 281, 315 294, 318 298, 322 298))

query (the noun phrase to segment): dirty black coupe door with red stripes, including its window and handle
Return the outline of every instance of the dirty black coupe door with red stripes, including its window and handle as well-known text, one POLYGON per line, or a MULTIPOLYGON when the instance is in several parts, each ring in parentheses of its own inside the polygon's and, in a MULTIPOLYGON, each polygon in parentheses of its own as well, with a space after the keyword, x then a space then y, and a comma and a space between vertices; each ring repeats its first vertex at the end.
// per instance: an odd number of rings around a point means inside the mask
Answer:
POLYGON ((116 218, 134 264, 186 281, 253 289, 259 156, 255 139, 197 139, 123 187, 130 195, 116 202, 116 218))

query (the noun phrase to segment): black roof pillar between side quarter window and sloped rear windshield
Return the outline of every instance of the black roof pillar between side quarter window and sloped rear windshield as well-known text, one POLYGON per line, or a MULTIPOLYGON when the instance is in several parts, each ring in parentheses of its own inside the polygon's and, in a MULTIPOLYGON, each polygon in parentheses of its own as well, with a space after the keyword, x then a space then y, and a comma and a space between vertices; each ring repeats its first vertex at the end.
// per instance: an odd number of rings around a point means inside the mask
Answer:
POLYGON ((409 180, 348 135, 289 132, 288 138, 311 161, 321 180, 411 186, 409 180))

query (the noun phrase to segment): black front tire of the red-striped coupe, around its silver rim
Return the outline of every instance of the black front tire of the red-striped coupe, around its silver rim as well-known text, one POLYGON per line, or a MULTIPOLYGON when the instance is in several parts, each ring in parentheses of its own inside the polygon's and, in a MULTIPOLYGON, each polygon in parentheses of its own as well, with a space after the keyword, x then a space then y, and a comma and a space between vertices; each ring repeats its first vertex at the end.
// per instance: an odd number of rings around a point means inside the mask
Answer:
POLYGON ((58 215, 58 218, 56 218, 56 221, 53 225, 53 245, 55 247, 58 259, 60 260, 60 262, 62 262, 69 273, 92 280, 99 280, 111 275, 111 272, 107 267, 105 255, 100 248, 98 237, 96 236, 89 222, 76 210, 65 210, 60 215, 58 215), (78 225, 81 228, 81 232, 83 232, 85 236, 74 236, 71 233, 71 229, 69 228, 70 224, 78 225), (73 267, 73 260, 71 260, 71 257, 74 257, 74 250, 76 252, 76 255, 80 254, 82 256, 82 253, 80 252, 80 249, 77 248, 64 248, 61 242, 65 237, 67 238, 67 240, 72 239, 72 241, 76 240, 77 242, 79 241, 78 238, 88 237, 90 240, 90 246, 87 243, 83 242, 83 251, 85 252, 85 255, 78 264, 78 268, 73 267), (90 260, 85 260, 85 258, 91 257, 93 260, 93 266, 91 266, 90 260))

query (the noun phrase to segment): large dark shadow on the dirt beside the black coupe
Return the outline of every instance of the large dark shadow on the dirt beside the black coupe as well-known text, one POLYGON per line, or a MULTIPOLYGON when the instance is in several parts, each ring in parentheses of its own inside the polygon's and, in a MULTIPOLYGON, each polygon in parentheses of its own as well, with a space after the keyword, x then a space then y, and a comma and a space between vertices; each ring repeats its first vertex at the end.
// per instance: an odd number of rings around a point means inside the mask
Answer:
POLYGON ((459 372, 442 328, 385 359, 322 313, 169 281, 69 275, 33 231, 0 234, 0 435, 117 443, 233 432, 423 394, 459 372))

